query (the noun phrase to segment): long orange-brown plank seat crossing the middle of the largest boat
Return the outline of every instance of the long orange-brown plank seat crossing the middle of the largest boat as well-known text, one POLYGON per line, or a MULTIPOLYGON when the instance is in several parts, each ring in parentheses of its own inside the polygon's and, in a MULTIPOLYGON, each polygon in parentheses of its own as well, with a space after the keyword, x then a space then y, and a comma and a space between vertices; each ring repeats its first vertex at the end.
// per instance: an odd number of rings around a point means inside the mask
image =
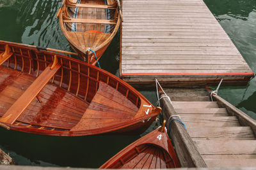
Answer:
POLYGON ((35 81, 28 87, 28 89, 12 104, 9 110, 0 118, 0 122, 6 124, 13 124, 20 114, 26 110, 29 104, 35 99, 45 85, 51 80, 52 76, 60 69, 61 64, 58 63, 56 55, 54 55, 54 62, 49 64, 44 71, 36 78, 35 81))

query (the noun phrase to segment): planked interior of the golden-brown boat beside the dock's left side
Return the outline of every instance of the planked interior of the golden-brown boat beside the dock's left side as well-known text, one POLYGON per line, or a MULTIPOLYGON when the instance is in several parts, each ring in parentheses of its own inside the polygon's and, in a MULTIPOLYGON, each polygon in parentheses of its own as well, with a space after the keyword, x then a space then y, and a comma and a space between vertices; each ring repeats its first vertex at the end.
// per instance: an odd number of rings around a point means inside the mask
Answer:
POLYGON ((114 0, 67 0, 62 16, 64 34, 82 52, 88 47, 96 49, 117 31, 118 10, 114 0))

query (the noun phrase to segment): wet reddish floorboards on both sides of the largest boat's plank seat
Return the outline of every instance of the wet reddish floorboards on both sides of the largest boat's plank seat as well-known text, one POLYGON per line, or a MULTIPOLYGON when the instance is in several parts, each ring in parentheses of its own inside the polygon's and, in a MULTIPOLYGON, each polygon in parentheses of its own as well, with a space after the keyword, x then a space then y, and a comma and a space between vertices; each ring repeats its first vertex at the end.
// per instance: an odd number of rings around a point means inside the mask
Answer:
MULTIPOLYGON (((0 116, 2 117, 36 77, 8 67, 0 67, 0 73, 3 75, 0 78, 0 116)), ((52 83, 47 83, 38 96, 42 103, 36 98, 33 99, 17 122, 71 129, 79 122, 88 107, 88 103, 52 83)))

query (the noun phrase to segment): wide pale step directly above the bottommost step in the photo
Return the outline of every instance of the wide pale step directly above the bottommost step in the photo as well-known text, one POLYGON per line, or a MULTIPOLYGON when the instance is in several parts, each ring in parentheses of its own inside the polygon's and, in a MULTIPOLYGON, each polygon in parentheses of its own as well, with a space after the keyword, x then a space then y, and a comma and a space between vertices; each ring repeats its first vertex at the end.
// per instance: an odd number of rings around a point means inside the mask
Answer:
POLYGON ((194 140, 201 155, 255 155, 256 140, 194 140))

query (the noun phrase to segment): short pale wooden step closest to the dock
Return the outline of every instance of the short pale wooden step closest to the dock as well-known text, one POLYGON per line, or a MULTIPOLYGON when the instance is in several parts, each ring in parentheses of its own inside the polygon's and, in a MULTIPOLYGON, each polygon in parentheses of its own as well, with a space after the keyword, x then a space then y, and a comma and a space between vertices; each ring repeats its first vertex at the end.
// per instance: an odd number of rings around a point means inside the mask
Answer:
POLYGON ((173 101, 173 108, 219 108, 217 102, 212 101, 173 101))

